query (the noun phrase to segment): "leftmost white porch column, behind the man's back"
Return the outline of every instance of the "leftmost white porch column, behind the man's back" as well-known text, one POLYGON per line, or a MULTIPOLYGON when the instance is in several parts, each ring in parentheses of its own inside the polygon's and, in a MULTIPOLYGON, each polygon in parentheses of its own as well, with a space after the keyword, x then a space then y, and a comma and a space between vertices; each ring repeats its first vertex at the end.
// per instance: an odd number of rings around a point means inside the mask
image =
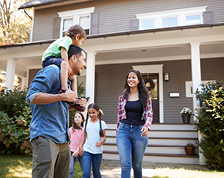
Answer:
POLYGON ((15 67, 16 67, 16 59, 8 59, 6 69, 6 82, 5 82, 5 87, 7 88, 7 90, 13 90, 15 67))

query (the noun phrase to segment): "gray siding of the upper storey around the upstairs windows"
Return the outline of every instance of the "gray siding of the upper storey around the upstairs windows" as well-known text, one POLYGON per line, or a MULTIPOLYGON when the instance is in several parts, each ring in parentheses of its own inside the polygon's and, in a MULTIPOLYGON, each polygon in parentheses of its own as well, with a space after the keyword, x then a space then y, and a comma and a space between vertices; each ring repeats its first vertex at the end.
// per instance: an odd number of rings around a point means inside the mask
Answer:
POLYGON ((224 1, 220 0, 98 0, 40 9, 35 11, 33 41, 53 38, 54 18, 57 12, 95 7, 99 12, 99 33, 130 31, 130 20, 135 14, 207 6, 214 11, 214 23, 224 22, 224 1))

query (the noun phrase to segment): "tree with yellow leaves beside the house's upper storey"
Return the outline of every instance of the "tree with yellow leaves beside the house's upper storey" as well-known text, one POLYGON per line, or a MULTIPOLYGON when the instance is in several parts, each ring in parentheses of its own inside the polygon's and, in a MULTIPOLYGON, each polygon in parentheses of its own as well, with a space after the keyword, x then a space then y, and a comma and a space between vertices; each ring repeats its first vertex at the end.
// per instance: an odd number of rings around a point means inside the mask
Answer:
POLYGON ((18 10, 26 1, 0 0, 0 42, 3 45, 29 41, 31 19, 18 10))

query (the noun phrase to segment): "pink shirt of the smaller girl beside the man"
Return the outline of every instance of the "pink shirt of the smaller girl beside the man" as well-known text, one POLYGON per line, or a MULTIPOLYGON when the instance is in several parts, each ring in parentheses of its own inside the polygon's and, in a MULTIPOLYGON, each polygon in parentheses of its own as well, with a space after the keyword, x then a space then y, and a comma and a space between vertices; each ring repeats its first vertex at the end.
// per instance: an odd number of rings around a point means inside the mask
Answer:
POLYGON ((73 129, 73 127, 69 128, 69 137, 71 140, 70 150, 73 152, 79 153, 79 145, 82 142, 84 136, 84 129, 73 129))

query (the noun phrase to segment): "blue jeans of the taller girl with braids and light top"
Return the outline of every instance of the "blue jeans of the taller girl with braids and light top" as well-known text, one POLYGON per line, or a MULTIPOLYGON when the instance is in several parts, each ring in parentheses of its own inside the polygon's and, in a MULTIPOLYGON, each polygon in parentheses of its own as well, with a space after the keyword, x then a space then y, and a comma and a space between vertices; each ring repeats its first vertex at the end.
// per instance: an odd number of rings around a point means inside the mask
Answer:
POLYGON ((102 154, 92 154, 84 151, 83 153, 83 178, 91 177, 91 164, 94 178, 101 178, 100 165, 102 160, 102 154))

